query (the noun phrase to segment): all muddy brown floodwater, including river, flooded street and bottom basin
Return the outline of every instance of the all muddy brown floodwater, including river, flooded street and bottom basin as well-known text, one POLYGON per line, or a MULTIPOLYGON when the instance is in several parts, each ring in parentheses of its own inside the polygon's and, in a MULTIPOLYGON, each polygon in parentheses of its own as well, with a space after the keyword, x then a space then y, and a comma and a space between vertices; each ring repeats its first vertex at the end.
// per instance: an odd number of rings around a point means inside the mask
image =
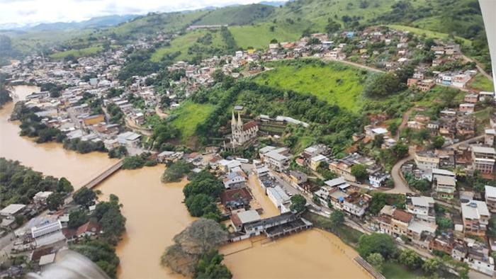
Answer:
MULTIPOLYGON (((39 91, 39 88, 16 86, 16 94, 21 100, 34 91, 39 91)), ((45 175, 64 176, 74 188, 81 187, 115 161, 108 159, 107 154, 78 154, 64 150, 62 144, 36 144, 32 139, 19 137, 19 123, 8 121, 12 109, 13 104, 7 104, 0 110, 0 156, 21 161, 45 175)), ((172 243, 172 237, 186 228, 193 218, 181 203, 186 181, 161 183, 163 171, 163 165, 118 171, 97 188, 103 192, 103 199, 111 193, 118 195, 123 204, 123 215, 128 220, 127 232, 116 248, 120 258, 119 278, 181 278, 181 275, 173 275, 160 266, 160 256, 172 243)), ((250 176, 252 188, 257 186, 253 179, 250 176)), ((278 214, 261 190, 254 188, 253 192, 266 208, 264 217, 278 214)), ((266 244, 261 244, 261 241, 252 244, 252 240, 228 244, 220 249, 227 255, 225 264, 234 278, 368 277, 351 260, 356 252, 327 232, 312 229, 266 244)))

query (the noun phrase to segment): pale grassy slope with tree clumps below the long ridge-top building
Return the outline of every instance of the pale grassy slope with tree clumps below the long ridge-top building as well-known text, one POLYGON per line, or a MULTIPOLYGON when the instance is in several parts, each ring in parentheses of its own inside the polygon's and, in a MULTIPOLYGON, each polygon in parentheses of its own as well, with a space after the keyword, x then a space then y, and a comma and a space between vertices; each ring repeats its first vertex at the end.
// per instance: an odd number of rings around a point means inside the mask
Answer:
MULTIPOLYGON (((159 62, 160 59, 164 57, 164 55, 172 54, 178 51, 181 52, 181 55, 176 57, 174 61, 191 59, 196 55, 196 53, 188 54, 188 48, 194 45, 196 40, 198 40, 198 38, 202 37, 206 33, 208 33, 208 30, 194 30, 188 32, 186 33, 186 35, 182 35, 181 37, 172 40, 171 45, 169 47, 160 47, 159 49, 157 49, 152 55, 151 59, 152 61, 159 62)), ((222 35, 220 35, 220 31, 212 33, 212 45, 206 45, 206 47, 216 47, 220 49, 224 47, 224 40, 222 40, 222 35)), ((232 53, 232 55, 234 55, 234 53, 232 53)))

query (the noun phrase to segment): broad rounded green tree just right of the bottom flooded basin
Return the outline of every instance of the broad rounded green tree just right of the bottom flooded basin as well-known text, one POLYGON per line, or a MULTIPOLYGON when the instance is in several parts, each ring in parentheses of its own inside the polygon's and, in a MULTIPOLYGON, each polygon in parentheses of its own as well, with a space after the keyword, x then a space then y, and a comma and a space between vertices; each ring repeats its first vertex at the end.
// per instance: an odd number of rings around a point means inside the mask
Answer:
POLYGON ((359 239, 359 254, 362 258, 374 253, 388 258, 396 249, 396 243, 389 234, 363 234, 359 239))

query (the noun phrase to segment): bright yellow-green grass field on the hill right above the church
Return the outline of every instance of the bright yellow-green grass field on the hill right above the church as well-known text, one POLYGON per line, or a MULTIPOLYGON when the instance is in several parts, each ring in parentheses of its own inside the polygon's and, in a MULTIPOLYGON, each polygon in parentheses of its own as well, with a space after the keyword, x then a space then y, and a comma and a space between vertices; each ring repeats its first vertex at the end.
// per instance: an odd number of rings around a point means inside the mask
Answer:
POLYGON ((300 64, 296 60, 269 63, 274 67, 259 74, 254 81, 300 93, 310 93, 329 103, 359 110, 366 70, 340 62, 328 62, 324 67, 317 64, 300 64))

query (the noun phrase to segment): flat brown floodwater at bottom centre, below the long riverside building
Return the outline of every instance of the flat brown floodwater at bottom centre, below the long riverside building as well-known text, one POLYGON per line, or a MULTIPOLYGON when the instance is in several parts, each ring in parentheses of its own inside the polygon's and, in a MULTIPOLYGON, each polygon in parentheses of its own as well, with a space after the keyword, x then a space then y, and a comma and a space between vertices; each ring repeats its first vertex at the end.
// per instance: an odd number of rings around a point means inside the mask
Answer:
POLYGON ((358 254, 334 234, 312 229, 273 243, 243 240, 222 247, 234 278, 369 278, 352 259, 358 254), (332 243, 338 244, 346 255, 332 243), (252 246, 252 248, 247 249, 252 246), (243 251, 239 251, 246 249, 243 251), (230 254, 239 251, 235 254, 230 254))

